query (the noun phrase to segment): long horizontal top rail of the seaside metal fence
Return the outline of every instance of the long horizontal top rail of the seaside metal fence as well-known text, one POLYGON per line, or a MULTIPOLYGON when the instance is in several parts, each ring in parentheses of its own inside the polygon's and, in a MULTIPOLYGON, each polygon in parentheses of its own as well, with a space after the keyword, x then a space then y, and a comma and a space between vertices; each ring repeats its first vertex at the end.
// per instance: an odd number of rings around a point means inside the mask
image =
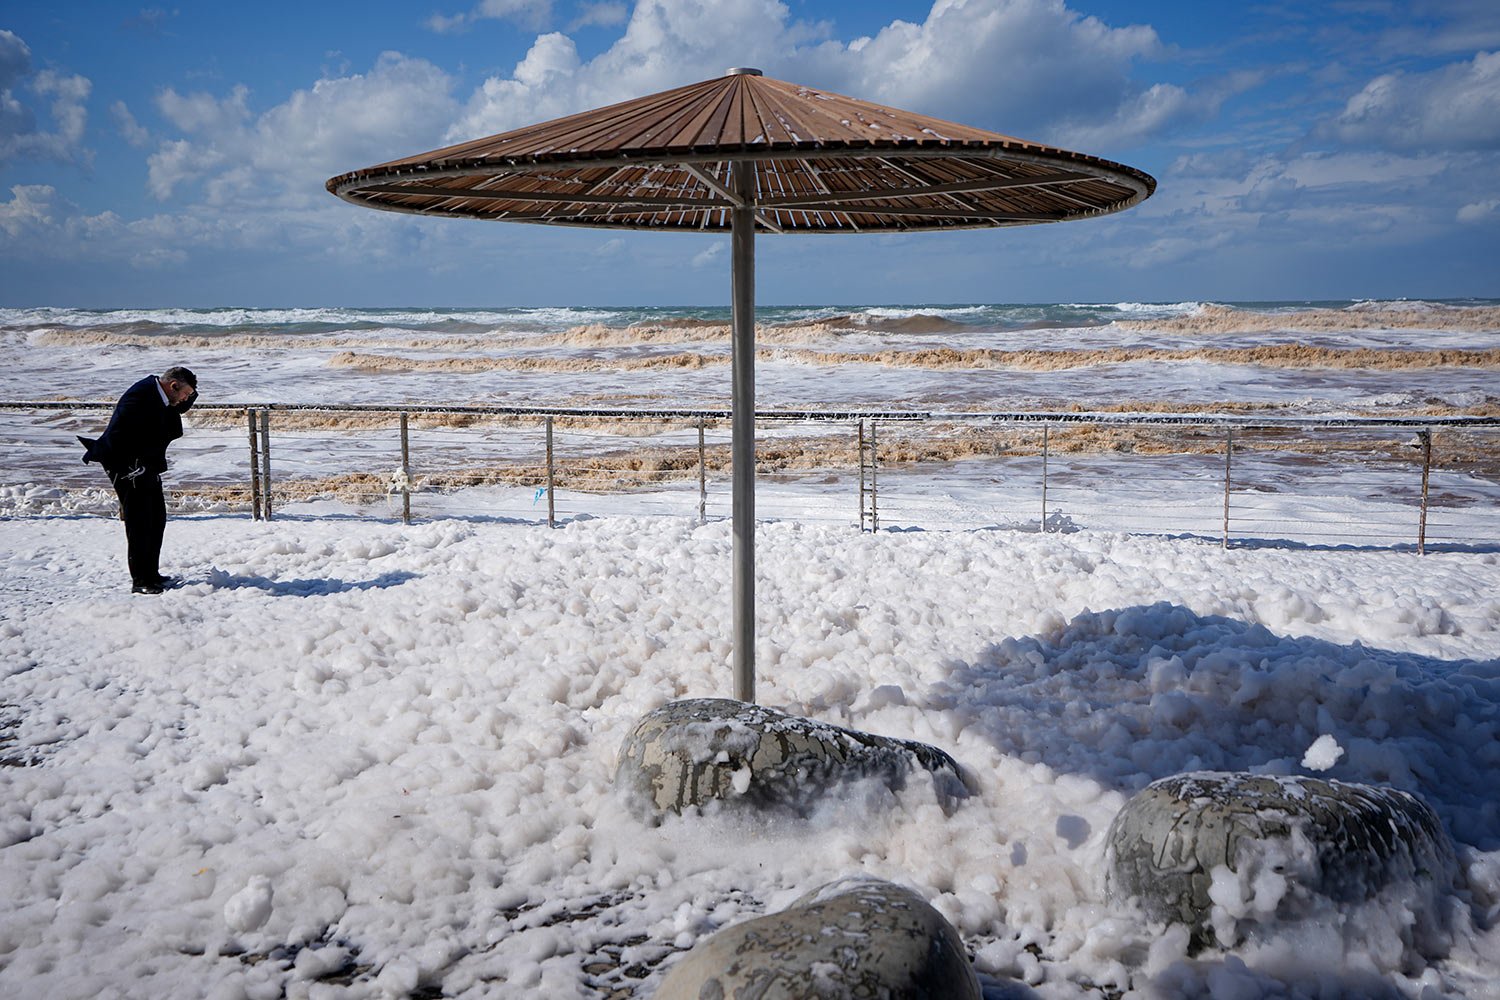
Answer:
MULTIPOLYGON (((108 400, 0 400, 0 409, 112 409, 108 400)), ((363 414, 483 414, 494 417, 614 417, 621 420, 729 420, 729 409, 668 408, 624 409, 600 406, 498 406, 483 403, 198 403, 201 411, 276 409, 288 412, 363 414)), ((1014 423, 1014 424, 1152 424, 1198 427, 1500 427, 1500 417, 1266 417, 1248 414, 1158 414, 1158 412, 1010 412, 938 409, 756 409, 756 420, 808 423, 891 420, 900 423, 1014 423)))

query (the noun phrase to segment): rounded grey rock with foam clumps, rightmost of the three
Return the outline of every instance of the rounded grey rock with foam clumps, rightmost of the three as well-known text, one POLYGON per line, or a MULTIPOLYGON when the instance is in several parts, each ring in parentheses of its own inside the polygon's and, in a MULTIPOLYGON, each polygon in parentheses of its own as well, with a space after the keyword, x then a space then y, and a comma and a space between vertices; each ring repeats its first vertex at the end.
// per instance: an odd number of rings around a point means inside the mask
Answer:
POLYGON ((1410 912, 1406 943, 1420 948, 1443 924, 1454 874, 1422 799, 1320 778, 1173 775, 1132 796, 1108 832, 1110 895, 1191 927, 1200 943, 1389 894, 1410 912))

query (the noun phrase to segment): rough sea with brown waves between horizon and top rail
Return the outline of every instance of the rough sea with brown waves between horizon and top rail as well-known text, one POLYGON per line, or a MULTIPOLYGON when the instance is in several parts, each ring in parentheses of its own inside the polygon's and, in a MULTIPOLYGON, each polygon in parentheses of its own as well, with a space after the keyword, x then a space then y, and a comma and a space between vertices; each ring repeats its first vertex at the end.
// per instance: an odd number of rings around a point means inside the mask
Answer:
MULTIPOLYGON (((762 408, 1482 411, 1500 300, 765 306, 762 408)), ((0 309, 0 399, 726 406, 729 310, 0 309)))

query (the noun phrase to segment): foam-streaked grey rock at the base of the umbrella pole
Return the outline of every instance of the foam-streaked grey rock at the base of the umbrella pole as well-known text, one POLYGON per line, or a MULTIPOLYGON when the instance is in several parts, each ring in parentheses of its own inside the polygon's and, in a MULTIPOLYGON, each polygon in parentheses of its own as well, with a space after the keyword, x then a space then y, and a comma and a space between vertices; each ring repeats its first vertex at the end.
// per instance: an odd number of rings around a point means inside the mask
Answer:
POLYGON ((747 702, 690 699, 640 720, 615 780, 644 813, 726 801, 806 816, 830 787, 876 778, 898 792, 914 771, 933 775, 945 807, 966 795, 958 765, 936 747, 747 702))

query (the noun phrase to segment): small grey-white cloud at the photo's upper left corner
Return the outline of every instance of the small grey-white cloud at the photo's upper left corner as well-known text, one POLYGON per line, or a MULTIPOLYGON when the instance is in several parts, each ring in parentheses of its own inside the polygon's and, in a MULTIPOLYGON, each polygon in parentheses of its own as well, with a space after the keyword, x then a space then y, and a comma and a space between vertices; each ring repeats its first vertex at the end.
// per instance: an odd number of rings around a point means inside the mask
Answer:
POLYGON ((15 157, 88 162, 82 145, 88 111, 84 102, 93 84, 84 78, 44 69, 32 73, 32 49, 14 31, 0 30, 0 162, 15 157), (16 88, 24 82, 51 115, 51 129, 38 126, 36 111, 16 88))

